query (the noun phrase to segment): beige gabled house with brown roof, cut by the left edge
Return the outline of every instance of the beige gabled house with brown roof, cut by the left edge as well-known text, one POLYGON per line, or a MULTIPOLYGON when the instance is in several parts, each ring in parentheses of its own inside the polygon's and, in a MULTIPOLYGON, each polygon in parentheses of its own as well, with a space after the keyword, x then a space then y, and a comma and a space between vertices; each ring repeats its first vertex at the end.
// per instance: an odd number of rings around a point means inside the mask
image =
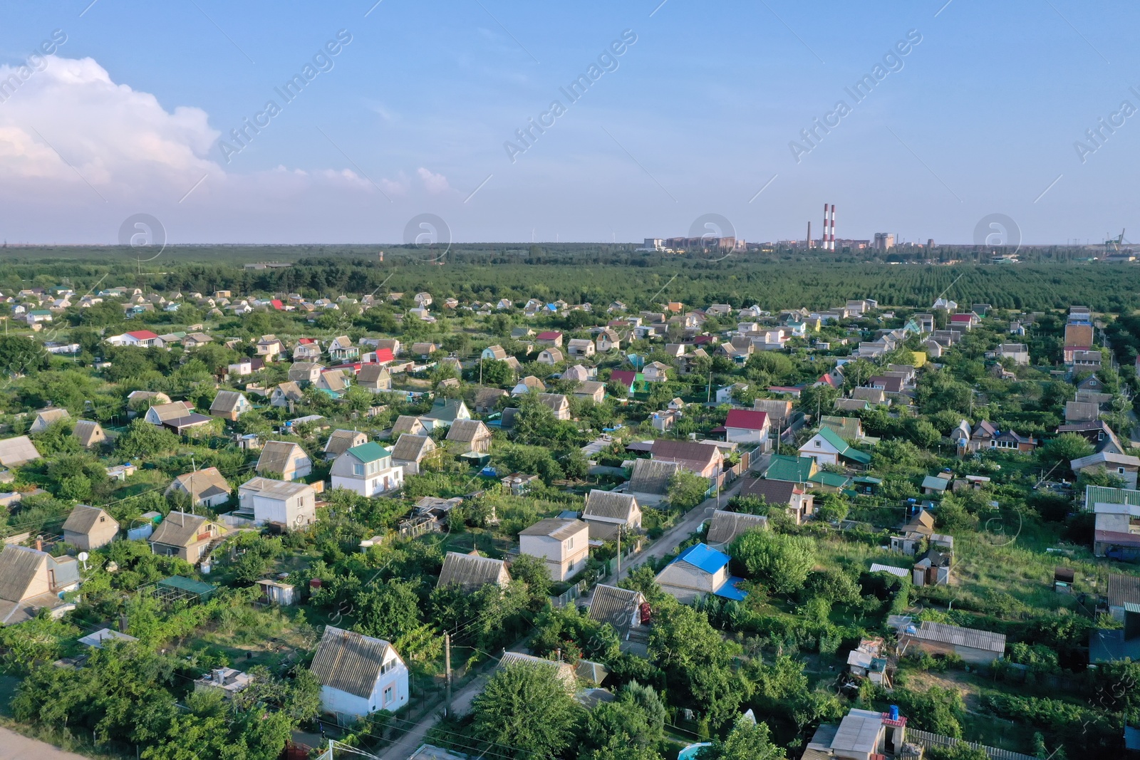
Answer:
POLYGON ((75 557, 52 557, 26 546, 5 546, 0 551, 0 624, 14 626, 49 610, 59 618, 75 608, 62 597, 80 586, 75 557))

